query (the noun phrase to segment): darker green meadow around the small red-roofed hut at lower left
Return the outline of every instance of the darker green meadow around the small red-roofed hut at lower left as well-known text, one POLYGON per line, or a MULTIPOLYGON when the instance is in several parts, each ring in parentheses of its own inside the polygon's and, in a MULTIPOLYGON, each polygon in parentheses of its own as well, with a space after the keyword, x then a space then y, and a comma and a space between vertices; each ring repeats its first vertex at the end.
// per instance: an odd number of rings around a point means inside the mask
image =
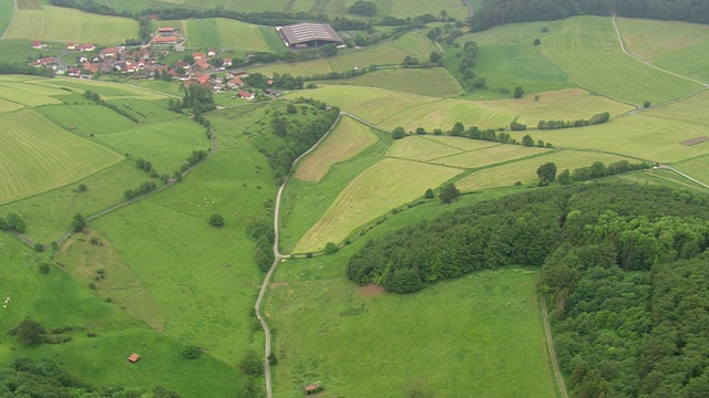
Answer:
POLYGON ((19 357, 50 358, 72 377, 95 386, 127 385, 152 389, 163 385, 182 396, 235 396, 238 371, 213 357, 188 360, 182 357, 182 343, 157 333, 126 315, 117 305, 105 303, 85 285, 72 281, 62 270, 48 275, 37 271, 42 256, 31 253, 13 237, 0 234, 0 280, 3 294, 11 297, 3 308, 0 328, 9 331, 30 317, 45 327, 72 326, 70 343, 25 347, 3 333, 0 362, 19 357), (96 337, 88 337, 93 331, 96 337), (135 366, 126 357, 142 355, 135 366))

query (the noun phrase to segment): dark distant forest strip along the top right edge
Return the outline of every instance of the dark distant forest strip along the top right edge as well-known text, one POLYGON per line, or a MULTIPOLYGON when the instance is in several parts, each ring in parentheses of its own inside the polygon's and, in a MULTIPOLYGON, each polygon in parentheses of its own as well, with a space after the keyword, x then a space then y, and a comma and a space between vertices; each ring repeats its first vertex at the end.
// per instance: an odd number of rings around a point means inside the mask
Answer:
POLYGON ((709 2, 696 0, 483 0, 470 19, 473 31, 573 15, 610 15, 709 23, 709 2))

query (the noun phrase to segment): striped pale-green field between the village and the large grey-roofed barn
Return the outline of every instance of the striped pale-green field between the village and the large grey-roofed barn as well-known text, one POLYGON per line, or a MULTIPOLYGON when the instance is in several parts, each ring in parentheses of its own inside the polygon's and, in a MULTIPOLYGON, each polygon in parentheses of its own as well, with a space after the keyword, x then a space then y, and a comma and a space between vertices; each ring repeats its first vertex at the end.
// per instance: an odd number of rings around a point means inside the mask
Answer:
POLYGON ((258 27, 224 18, 184 22, 188 45, 226 48, 245 52, 280 52, 284 45, 273 28, 258 27), (267 39, 267 35, 271 38, 267 39), (273 48, 270 43, 279 43, 273 48))

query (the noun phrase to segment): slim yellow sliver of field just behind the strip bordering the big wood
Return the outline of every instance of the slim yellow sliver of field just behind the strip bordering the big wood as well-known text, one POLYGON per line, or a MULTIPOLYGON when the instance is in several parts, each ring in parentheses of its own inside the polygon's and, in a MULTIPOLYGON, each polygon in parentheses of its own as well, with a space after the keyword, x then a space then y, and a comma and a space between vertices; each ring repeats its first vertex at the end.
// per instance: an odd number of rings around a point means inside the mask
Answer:
POLYGON ((499 163, 535 156, 552 149, 524 147, 521 145, 497 145, 460 155, 431 160, 430 163, 464 168, 479 168, 499 163))

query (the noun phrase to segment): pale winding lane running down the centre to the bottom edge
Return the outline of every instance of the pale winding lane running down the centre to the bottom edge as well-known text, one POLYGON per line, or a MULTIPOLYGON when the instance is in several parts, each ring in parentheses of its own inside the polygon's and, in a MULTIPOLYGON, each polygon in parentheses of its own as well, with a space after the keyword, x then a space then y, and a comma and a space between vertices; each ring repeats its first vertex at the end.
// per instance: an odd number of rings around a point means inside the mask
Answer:
POLYGON ((318 142, 315 143, 312 147, 310 147, 310 149, 306 150, 302 155, 298 156, 296 160, 292 161, 292 166, 290 167, 290 172, 288 172, 286 178, 284 178, 284 182, 280 185, 280 188, 278 188, 278 195, 276 196, 276 207, 274 209, 274 263, 270 265, 270 269, 268 270, 268 272, 266 273, 266 276, 264 277, 264 283, 261 284, 261 289, 258 292, 258 298, 256 298, 256 304, 254 305, 254 310, 256 310, 256 318, 258 320, 258 322, 260 322, 261 327, 264 328, 264 338, 266 339, 265 348, 264 348, 264 376, 266 378, 266 397, 267 398, 274 397, 274 389, 273 389, 273 384, 270 378, 270 363, 268 362, 268 357, 270 356, 270 328, 268 327, 268 323, 266 323, 266 320, 261 315, 261 304, 264 302, 264 296, 268 291, 268 286, 270 285, 270 276, 276 271, 278 263, 280 263, 281 260, 288 258, 287 255, 282 255, 278 251, 278 214, 280 213, 280 198, 282 197, 284 190, 286 189, 286 186, 288 185, 288 180, 290 179, 290 175, 292 174, 292 170, 295 170, 298 161, 300 161, 300 159, 302 159, 305 156, 307 156, 312 150, 315 150, 315 148, 317 148, 320 145, 320 143, 322 143, 322 140, 330 135, 330 132, 332 132, 335 127, 338 125, 342 115, 343 113, 340 112, 340 114, 335 119, 335 123, 332 123, 332 126, 330 126, 330 128, 322 135, 322 137, 320 137, 320 139, 318 139, 318 142))

